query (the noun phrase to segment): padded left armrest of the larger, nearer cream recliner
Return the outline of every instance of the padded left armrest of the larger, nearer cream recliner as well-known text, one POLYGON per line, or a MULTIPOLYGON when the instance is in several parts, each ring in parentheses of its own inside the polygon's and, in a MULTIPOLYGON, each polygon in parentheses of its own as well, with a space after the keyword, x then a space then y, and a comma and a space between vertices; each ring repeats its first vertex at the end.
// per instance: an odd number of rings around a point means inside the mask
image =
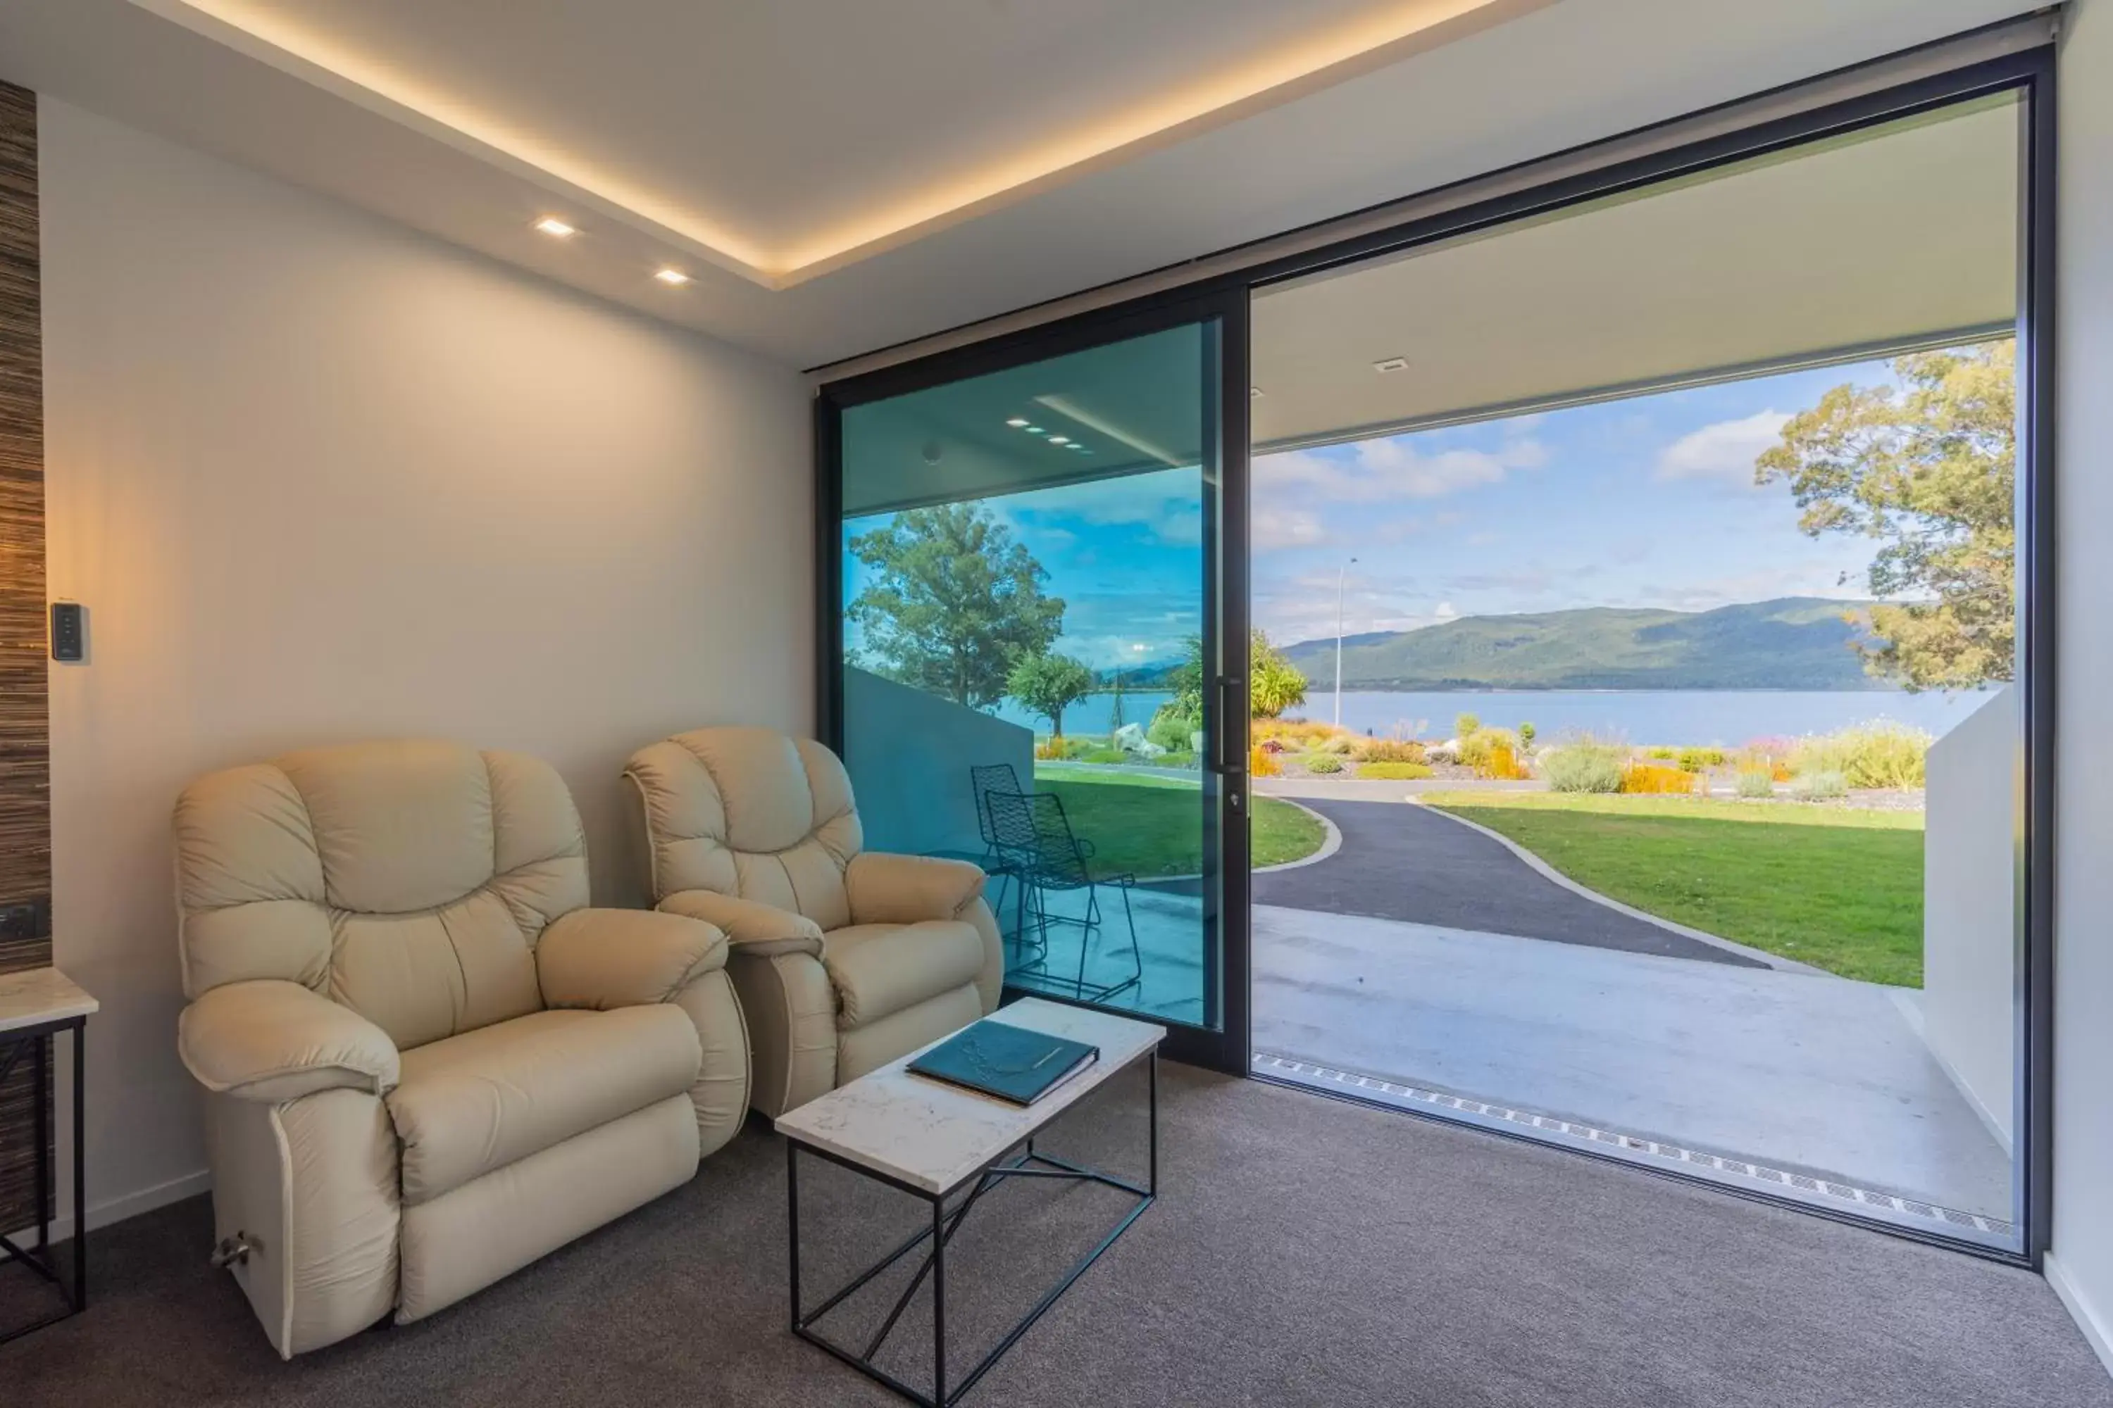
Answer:
POLYGON ((385 1096, 401 1077, 382 1028, 277 977, 203 992, 177 1017, 175 1047, 205 1089, 268 1104, 323 1089, 385 1096))

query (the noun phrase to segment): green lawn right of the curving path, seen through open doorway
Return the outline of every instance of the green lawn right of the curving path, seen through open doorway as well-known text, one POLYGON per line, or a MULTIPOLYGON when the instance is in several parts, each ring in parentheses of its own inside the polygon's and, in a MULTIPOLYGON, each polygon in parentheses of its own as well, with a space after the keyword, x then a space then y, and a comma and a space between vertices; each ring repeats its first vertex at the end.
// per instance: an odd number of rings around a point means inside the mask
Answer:
POLYGON ((1923 986, 1923 815, 1557 792, 1428 792, 1602 895, 1870 982, 1923 986))

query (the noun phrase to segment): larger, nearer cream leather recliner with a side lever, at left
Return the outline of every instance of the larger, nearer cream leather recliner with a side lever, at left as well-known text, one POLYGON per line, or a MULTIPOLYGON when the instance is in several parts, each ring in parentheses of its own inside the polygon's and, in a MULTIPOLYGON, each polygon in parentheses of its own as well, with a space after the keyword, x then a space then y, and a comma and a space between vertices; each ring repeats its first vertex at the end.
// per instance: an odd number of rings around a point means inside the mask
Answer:
POLYGON ((585 908, 549 764, 289 754, 186 787, 175 846, 213 1220, 281 1355, 431 1315, 740 1129, 727 937, 585 908))

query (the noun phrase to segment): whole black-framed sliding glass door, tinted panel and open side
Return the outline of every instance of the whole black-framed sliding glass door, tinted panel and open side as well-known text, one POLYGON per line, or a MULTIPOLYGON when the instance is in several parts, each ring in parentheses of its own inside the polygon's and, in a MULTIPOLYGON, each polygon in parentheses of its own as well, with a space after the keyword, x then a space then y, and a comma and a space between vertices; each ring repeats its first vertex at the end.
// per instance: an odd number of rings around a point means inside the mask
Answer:
POLYGON ((868 844, 1183 1060, 2037 1264, 2050 72, 830 382, 868 844))

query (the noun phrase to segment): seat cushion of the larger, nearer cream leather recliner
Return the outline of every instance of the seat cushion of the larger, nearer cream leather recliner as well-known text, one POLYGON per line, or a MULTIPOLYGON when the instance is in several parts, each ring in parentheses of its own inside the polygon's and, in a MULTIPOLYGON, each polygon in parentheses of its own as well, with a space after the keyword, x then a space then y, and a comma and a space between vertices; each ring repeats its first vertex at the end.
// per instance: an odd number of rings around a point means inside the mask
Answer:
POLYGON ((401 1062, 389 1115, 414 1205, 689 1091, 704 1049, 680 1007, 653 1005, 537 1011, 401 1062))

